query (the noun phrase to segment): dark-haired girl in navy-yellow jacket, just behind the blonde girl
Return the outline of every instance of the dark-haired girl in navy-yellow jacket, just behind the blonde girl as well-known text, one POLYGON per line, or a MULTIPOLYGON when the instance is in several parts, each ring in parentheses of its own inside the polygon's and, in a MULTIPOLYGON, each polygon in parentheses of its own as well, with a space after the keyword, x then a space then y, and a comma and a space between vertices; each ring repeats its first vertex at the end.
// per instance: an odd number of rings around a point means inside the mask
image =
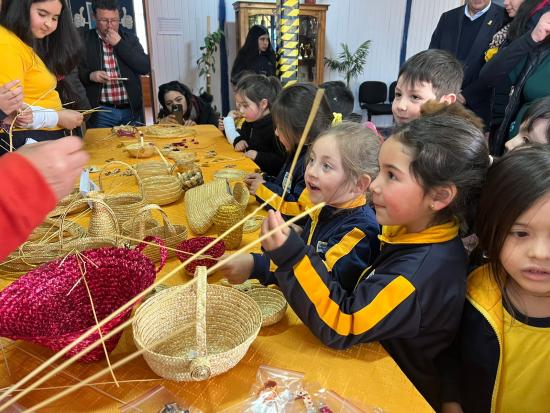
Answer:
POLYGON ((311 83, 295 84, 281 92, 273 104, 272 114, 276 126, 275 134, 288 154, 287 159, 276 176, 264 177, 260 174, 250 174, 245 179, 251 194, 256 195, 259 203, 265 202, 273 194, 276 194, 277 196, 269 203, 269 206, 277 208, 281 202, 281 198, 284 198, 285 202, 281 205, 281 213, 286 217, 299 215, 310 205, 307 191, 304 191, 307 144, 322 131, 330 127, 332 122, 332 111, 326 98, 323 96, 315 120, 309 130, 306 145, 304 145, 294 168, 293 176, 289 177, 292 159, 306 126, 316 93, 317 86, 311 83), (288 179, 291 179, 289 190, 283 195, 283 188, 288 179))

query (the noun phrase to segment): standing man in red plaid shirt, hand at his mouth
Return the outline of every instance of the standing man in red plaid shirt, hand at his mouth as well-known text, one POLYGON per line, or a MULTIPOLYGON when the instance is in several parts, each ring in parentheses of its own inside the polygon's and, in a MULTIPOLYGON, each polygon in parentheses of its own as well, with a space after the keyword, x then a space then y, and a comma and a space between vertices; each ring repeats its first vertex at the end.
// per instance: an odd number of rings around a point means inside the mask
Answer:
POLYGON ((90 128, 143 123, 140 75, 149 73, 149 57, 138 38, 120 28, 118 0, 94 0, 96 28, 83 33, 85 58, 80 80, 93 107, 90 128))

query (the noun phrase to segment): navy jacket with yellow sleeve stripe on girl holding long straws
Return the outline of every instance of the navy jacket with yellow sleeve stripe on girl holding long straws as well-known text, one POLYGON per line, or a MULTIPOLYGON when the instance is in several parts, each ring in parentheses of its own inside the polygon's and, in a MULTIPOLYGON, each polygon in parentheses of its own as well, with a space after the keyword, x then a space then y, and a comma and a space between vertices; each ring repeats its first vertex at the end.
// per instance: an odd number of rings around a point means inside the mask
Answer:
POLYGON ((458 329, 467 256, 458 223, 420 233, 383 227, 382 248, 353 293, 346 291, 297 235, 266 252, 292 309, 324 344, 347 348, 379 341, 436 409, 440 378, 436 358, 458 329))

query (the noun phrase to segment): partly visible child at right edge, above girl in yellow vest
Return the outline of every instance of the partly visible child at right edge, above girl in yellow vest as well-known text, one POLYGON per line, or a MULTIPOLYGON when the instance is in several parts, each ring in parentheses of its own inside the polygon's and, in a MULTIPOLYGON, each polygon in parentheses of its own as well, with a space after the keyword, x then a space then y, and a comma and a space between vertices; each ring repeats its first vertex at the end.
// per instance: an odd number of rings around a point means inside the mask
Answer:
POLYGON ((528 143, 550 143, 550 96, 537 99, 529 106, 519 133, 504 146, 511 151, 528 143))

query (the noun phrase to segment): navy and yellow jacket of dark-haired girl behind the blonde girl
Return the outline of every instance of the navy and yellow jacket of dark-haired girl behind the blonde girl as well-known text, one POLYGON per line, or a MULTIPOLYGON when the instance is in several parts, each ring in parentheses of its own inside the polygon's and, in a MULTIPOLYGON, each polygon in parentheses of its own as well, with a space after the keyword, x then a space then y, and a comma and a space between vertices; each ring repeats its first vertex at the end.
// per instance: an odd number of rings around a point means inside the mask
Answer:
MULTIPOLYGON (((289 219, 300 215, 307 208, 313 204, 309 200, 308 191, 306 190, 306 183, 304 180, 304 173, 306 171, 306 154, 307 148, 303 147, 302 153, 296 162, 294 168, 292 181, 290 183, 288 192, 284 195, 283 204, 281 205, 280 212, 283 218, 289 219)), ((287 179, 289 179, 290 166, 294 155, 289 156, 284 165, 282 166, 279 174, 276 177, 265 176, 265 183, 260 185, 256 190, 256 199, 260 204, 263 204, 274 194, 277 195, 271 202, 269 202, 268 209, 277 209, 283 196, 283 188, 287 179)))

